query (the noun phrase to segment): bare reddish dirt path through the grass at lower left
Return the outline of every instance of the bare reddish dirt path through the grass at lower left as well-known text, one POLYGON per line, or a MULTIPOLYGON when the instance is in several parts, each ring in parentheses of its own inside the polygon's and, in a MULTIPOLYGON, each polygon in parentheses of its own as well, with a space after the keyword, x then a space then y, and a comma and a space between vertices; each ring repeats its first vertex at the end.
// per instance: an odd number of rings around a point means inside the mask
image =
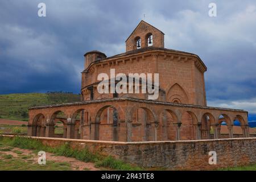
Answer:
MULTIPOLYGON (((1 152, 5 155, 13 155, 14 158, 18 158, 19 155, 16 154, 15 151, 22 152, 22 155, 32 156, 32 158, 30 158, 30 159, 33 160, 33 163, 34 164, 38 163, 39 156, 37 156, 31 150, 14 147, 11 151, 1 151, 1 152)), ((46 152, 46 163, 47 163, 47 160, 51 160, 54 162, 67 162, 71 165, 72 170, 77 170, 77 171, 82 171, 82 170, 98 171, 98 170, 100 170, 99 168, 94 167, 93 163, 81 162, 80 160, 77 160, 75 158, 67 158, 65 156, 56 156, 55 154, 52 154, 49 152, 46 152)))

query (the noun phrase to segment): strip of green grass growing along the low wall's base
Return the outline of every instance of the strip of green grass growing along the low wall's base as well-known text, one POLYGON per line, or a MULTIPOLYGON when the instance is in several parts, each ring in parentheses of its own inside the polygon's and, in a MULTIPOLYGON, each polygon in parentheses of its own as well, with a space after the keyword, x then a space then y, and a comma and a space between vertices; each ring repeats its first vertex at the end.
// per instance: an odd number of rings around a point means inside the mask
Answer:
POLYGON ((65 143, 61 146, 49 147, 44 145, 40 140, 26 138, 26 137, 14 137, 6 138, 0 137, 0 144, 11 147, 25 148, 29 150, 46 151, 55 155, 67 156, 81 160, 82 162, 96 163, 96 167, 111 168, 117 170, 142 170, 137 166, 123 162, 113 158, 112 156, 104 156, 98 152, 90 152, 88 148, 72 148, 69 143, 65 143))

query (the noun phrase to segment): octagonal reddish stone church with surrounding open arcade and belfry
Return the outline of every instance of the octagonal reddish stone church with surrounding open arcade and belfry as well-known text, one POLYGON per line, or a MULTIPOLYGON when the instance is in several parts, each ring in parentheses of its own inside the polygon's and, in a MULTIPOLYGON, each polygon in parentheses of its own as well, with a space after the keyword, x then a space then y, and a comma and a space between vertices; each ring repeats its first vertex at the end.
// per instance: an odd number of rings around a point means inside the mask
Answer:
MULTIPOLYGON (((31 107, 28 135, 123 142, 249 137, 247 111, 207 106, 207 67, 200 57, 165 48, 164 33, 143 20, 127 38, 126 52, 107 57, 90 51, 84 61, 81 101, 31 107), (142 92, 99 93, 98 75, 110 75, 110 69, 127 77, 159 73, 158 99, 142 92), (239 135, 234 121, 241 124, 239 135), (221 134, 224 126, 228 133, 221 134)), ((139 88, 144 84, 139 79, 139 88)))

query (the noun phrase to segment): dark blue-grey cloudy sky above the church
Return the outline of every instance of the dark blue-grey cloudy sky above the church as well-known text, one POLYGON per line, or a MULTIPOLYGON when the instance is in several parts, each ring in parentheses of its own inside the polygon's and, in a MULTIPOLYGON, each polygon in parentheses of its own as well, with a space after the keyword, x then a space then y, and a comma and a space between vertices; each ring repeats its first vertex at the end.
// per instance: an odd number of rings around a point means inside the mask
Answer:
POLYGON ((255 0, 1 0, 0 94, 79 93, 83 54, 125 52, 142 19, 166 34, 166 48, 201 57, 209 106, 246 109, 256 120, 255 0), (211 2, 217 17, 208 15, 211 2))

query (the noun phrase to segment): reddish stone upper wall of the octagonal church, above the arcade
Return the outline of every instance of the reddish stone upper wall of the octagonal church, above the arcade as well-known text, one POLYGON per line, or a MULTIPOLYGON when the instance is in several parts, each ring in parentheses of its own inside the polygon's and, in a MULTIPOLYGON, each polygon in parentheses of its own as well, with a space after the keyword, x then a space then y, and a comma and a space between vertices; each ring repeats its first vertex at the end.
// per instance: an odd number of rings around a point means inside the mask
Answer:
MULTIPOLYGON (((110 78, 110 69, 115 69, 115 75, 118 73, 125 73, 126 75, 129 75, 129 73, 159 73, 160 89, 165 92, 165 96, 159 97, 158 100, 172 102, 174 98, 179 98, 182 104, 205 105, 204 73, 201 73, 195 67, 195 61, 171 59, 171 57, 164 59, 164 55, 158 54, 160 53, 153 56, 147 55, 144 59, 138 61, 130 59, 122 61, 122 59, 119 59, 121 63, 112 64, 111 66, 99 66, 101 63, 93 65, 93 72, 82 73, 82 88, 98 82, 97 76, 100 73, 106 73, 110 78), (177 88, 172 90, 171 88, 174 85, 177 85, 177 88)), ((85 92, 85 89, 82 89, 82 94, 84 100, 90 100, 90 92, 85 92)), ((113 93, 98 93, 97 85, 93 88, 93 94, 94 100, 113 98, 113 93)), ((147 99, 146 94, 130 94, 129 97, 147 99)))

